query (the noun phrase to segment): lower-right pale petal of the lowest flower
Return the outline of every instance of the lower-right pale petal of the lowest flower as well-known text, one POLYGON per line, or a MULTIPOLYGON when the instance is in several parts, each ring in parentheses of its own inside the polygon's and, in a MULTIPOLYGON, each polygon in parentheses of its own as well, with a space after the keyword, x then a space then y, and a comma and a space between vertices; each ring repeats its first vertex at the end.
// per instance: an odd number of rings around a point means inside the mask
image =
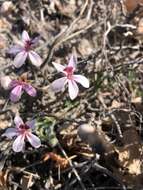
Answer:
POLYGON ((33 147, 39 148, 41 146, 41 141, 36 135, 33 135, 32 133, 28 133, 26 137, 33 147))

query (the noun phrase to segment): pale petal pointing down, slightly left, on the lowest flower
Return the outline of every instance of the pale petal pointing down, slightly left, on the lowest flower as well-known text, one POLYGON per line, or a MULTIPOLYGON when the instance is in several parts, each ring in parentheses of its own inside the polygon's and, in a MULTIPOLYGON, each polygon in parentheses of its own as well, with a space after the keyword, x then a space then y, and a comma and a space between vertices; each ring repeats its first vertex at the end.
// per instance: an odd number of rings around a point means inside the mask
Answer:
POLYGON ((19 135, 13 142, 12 148, 15 152, 21 152, 24 149, 24 135, 19 135))

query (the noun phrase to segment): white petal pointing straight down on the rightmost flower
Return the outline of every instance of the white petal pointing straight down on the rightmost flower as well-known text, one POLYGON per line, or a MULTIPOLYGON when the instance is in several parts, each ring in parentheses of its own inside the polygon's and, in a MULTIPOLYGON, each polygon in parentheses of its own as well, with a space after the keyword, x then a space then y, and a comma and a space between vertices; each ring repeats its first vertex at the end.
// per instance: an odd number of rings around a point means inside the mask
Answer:
POLYGON ((68 80, 68 90, 69 90, 69 96, 73 100, 77 97, 79 89, 73 80, 68 80))

